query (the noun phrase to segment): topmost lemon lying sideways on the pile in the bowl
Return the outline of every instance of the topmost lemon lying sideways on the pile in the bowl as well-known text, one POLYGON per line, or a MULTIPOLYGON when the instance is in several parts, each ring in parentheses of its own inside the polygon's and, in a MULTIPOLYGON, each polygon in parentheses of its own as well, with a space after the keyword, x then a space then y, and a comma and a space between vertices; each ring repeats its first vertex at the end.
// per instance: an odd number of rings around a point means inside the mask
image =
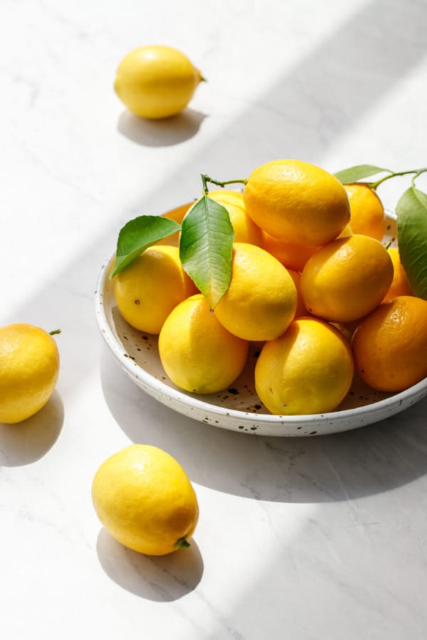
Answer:
POLYGON ((339 180, 300 160, 274 160, 258 167, 243 198, 258 227, 296 245, 325 245, 350 219, 347 192, 339 180))

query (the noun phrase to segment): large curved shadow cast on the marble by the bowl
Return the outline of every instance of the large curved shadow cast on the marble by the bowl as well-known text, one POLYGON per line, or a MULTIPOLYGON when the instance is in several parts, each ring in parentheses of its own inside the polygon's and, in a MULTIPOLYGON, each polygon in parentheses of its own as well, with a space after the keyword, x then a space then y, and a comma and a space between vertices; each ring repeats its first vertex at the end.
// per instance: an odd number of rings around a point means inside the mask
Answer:
POLYGON ((427 399, 368 427, 318 437, 262 437, 180 415, 137 388, 107 348, 105 401, 132 442, 172 454, 191 481, 255 500, 346 501, 381 494, 427 474, 427 399))

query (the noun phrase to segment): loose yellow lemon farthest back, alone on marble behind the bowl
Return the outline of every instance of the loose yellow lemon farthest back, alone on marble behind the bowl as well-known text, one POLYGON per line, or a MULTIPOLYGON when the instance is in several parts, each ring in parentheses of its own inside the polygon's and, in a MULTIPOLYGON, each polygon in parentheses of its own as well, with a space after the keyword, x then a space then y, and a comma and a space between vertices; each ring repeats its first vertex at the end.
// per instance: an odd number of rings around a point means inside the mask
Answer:
POLYGON ((189 58, 172 47, 149 45, 128 53, 120 62, 115 91, 138 116, 161 119, 188 105, 203 80, 189 58))

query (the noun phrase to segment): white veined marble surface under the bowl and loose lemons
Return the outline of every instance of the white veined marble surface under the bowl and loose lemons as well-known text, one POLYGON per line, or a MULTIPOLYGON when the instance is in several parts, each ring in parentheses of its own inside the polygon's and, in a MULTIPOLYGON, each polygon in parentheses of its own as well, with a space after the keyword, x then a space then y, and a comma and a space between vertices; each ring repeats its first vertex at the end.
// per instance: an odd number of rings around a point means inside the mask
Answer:
POLYGON ((192 198, 202 171, 426 166, 426 31, 426 0, 2 0, 0 324, 62 329, 53 399, 0 425, 2 639, 426 638, 426 400, 320 438, 215 429, 134 387, 93 311, 122 223, 192 198), (209 82, 149 124, 112 81, 152 42, 209 82), (93 474, 131 442, 194 482, 188 552, 131 553, 97 521, 93 474))

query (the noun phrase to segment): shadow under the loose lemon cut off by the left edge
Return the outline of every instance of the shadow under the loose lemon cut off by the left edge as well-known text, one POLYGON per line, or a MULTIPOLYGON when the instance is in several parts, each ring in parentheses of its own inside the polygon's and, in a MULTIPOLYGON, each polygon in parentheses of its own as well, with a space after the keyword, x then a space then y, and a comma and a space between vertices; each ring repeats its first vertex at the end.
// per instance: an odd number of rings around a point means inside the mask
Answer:
POLYGON ((0 424, 0 466, 22 466, 42 458, 53 447, 64 421, 57 391, 36 415, 16 425, 0 424))

